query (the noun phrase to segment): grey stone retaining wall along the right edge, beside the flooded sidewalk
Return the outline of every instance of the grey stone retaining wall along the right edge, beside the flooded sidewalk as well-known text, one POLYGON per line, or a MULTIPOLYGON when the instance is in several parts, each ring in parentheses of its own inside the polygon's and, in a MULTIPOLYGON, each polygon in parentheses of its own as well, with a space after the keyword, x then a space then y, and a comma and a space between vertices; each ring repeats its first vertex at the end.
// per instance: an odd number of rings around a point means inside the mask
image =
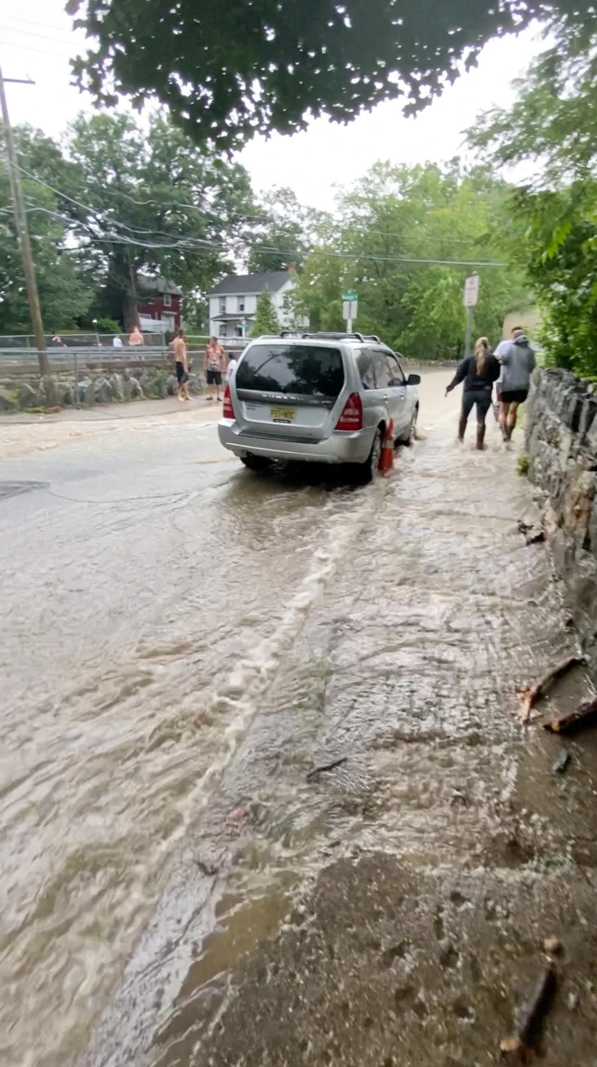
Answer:
POLYGON ((560 368, 537 371, 526 436, 566 607, 597 670, 597 385, 560 368))

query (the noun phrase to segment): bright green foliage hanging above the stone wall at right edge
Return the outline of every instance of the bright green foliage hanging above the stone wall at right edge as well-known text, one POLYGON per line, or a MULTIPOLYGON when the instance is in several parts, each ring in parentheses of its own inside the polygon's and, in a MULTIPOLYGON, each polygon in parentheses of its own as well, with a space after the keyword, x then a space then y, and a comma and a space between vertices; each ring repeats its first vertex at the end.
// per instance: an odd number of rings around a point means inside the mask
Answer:
POLYGON ((469 139, 494 165, 532 164, 512 197, 511 255, 545 314, 550 362, 597 376, 597 32, 574 23, 469 139))

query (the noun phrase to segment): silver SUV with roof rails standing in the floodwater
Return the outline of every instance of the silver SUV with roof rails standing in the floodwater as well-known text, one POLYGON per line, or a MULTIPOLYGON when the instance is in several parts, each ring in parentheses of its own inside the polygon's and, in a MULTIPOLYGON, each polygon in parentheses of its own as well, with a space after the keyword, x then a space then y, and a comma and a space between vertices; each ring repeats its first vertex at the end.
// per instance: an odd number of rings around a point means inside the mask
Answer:
POLYGON ((420 380, 378 337, 257 337, 226 386, 220 441, 252 471, 274 460, 346 463, 368 481, 390 419, 394 441, 412 441, 420 380))

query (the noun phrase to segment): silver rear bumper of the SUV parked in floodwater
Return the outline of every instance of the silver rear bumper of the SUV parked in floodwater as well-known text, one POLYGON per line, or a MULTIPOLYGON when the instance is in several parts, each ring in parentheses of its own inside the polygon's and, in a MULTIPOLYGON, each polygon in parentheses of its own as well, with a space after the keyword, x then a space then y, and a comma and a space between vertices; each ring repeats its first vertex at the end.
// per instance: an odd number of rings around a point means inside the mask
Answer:
POLYGON ((243 433, 232 418, 217 424, 220 443, 235 456, 263 456, 272 460, 295 460, 307 463, 365 463, 373 444, 373 430, 355 433, 333 433, 324 441, 292 441, 291 437, 256 437, 243 433))

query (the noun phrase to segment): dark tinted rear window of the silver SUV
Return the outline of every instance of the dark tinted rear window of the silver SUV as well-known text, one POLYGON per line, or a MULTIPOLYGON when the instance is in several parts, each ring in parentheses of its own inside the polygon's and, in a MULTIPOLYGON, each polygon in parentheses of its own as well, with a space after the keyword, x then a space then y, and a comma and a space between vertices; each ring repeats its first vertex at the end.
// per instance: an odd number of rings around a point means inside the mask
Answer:
POLYGON ((337 348, 313 345, 254 345, 237 370, 238 389, 337 397, 344 384, 337 348))

